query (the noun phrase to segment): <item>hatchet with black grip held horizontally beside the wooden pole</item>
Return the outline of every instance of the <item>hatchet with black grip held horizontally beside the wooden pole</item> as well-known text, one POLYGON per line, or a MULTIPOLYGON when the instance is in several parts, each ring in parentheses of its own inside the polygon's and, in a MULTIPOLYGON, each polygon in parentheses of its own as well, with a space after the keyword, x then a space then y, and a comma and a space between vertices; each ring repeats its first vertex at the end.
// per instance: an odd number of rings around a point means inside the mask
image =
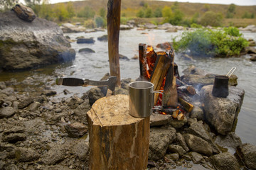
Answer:
POLYGON ((117 82, 117 77, 109 77, 107 80, 90 80, 90 79, 78 79, 78 78, 58 78, 56 79, 57 85, 64 86, 107 86, 108 89, 114 94, 114 87, 117 82))

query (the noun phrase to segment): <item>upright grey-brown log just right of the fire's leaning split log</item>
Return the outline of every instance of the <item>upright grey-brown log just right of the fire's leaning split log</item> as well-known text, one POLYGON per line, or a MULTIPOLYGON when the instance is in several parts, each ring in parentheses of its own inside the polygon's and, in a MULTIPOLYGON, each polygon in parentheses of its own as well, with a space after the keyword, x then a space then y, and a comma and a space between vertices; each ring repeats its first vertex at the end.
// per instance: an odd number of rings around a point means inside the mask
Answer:
POLYGON ((170 50, 169 57, 171 58, 171 65, 168 69, 164 85, 164 106, 176 107, 178 104, 178 94, 176 77, 174 76, 174 50, 170 50))

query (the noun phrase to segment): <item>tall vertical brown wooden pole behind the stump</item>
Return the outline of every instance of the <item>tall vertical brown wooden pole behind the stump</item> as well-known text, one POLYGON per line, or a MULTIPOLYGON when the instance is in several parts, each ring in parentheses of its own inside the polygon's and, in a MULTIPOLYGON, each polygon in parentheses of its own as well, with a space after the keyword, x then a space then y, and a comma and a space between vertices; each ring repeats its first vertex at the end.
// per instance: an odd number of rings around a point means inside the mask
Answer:
POLYGON ((117 86, 121 86, 119 66, 119 28, 121 0, 107 2, 107 37, 110 60, 110 75, 117 77, 117 86))

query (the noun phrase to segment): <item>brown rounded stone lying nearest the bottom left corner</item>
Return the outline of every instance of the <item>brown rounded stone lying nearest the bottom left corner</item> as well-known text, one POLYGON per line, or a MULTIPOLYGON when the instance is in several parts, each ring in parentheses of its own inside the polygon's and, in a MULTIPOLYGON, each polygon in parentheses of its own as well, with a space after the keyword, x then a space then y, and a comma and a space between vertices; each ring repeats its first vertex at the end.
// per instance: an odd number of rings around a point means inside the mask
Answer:
POLYGON ((18 147, 15 149, 15 157, 18 162, 32 162, 39 159, 40 154, 33 149, 18 147))

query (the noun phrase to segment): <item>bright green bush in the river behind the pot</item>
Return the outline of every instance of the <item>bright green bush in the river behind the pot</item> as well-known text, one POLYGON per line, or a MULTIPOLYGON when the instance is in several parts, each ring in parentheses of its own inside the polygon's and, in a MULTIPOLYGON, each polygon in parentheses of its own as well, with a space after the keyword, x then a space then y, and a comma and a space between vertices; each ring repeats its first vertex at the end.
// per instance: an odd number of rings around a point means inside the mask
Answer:
POLYGON ((174 49, 194 57, 230 57, 240 55, 247 47, 247 40, 241 36, 238 28, 197 29, 183 32, 179 41, 174 38, 174 49))

